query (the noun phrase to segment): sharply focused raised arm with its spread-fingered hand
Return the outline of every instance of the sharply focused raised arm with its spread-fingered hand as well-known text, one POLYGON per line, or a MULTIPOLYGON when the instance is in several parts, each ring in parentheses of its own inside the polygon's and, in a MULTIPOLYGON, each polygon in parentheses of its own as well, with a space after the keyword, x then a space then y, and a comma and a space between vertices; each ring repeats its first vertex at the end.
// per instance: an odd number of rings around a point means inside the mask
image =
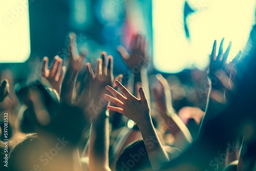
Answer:
POLYGON ((119 112, 137 123, 152 167, 153 169, 159 169, 161 164, 169 161, 169 159, 153 126, 150 108, 148 106, 143 88, 139 89, 140 99, 138 99, 127 91, 127 89, 123 87, 120 82, 115 81, 115 83, 122 91, 124 96, 118 93, 115 89, 107 86, 106 89, 109 90, 116 98, 106 94, 104 95, 104 98, 110 100, 118 106, 108 106, 108 109, 119 112))

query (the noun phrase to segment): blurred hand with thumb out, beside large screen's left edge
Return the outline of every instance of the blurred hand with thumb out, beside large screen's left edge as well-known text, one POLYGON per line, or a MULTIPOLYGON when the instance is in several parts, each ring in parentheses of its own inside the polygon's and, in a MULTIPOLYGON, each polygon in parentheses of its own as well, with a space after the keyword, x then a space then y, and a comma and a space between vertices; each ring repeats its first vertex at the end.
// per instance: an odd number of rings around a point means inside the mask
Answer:
POLYGON ((134 36, 131 55, 122 46, 118 46, 117 50, 130 70, 133 71, 134 67, 143 68, 147 65, 148 56, 146 55, 146 41, 142 35, 137 34, 134 36))

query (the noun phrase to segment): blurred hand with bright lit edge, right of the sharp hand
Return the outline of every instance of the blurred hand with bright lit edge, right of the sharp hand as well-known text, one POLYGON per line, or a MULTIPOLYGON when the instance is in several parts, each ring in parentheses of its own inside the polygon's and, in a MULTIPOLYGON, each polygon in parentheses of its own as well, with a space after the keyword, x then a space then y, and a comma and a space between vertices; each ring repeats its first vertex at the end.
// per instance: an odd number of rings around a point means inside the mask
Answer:
POLYGON ((167 113, 173 112, 172 96, 167 80, 161 74, 157 74, 157 79, 157 88, 154 88, 153 91, 157 108, 160 114, 165 116, 167 113))

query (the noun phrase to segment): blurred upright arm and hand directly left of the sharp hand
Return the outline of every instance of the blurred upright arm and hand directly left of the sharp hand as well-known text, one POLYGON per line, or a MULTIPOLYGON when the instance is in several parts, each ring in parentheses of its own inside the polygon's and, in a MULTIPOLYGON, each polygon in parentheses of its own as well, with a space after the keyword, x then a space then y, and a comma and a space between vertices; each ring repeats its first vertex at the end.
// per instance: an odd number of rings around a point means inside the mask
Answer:
POLYGON ((87 73, 91 74, 90 80, 91 97, 94 101, 88 109, 93 113, 93 122, 90 133, 89 144, 89 169, 110 170, 109 167, 109 111, 106 111, 108 101, 103 98, 106 93, 105 86, 113 84, 113 57, 101 53, 98 59, 95 74, 90 65, 87 65, 87 73), (108 59, 108 60, 106 60, 108 59), (106 63, 105 61, 108 61, 106 63), (90 71, 90 73, 89 73, 90 71))

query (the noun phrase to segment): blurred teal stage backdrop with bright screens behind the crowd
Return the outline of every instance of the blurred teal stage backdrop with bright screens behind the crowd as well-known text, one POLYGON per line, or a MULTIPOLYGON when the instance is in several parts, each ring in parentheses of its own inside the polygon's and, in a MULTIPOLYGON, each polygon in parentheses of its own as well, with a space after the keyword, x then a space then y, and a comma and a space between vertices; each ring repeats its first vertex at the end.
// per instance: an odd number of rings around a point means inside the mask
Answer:
POLYGON ((243 50, 255 23, 255 5, 253 0, 1 1, 1 77, 9 75, 14 83, 37 79, 44 56, 65 58, 70 31, 89 62, 106 51, 114 57, 114 73, 125 75, 129 71, 116 48, 130 50, 133 35, 140 33, 152 59, 150 83, 162 73, 177 111, 182 106, 204 111, 212 44, 225 37, 225 49, 231 40, 229 60, 243 50))

